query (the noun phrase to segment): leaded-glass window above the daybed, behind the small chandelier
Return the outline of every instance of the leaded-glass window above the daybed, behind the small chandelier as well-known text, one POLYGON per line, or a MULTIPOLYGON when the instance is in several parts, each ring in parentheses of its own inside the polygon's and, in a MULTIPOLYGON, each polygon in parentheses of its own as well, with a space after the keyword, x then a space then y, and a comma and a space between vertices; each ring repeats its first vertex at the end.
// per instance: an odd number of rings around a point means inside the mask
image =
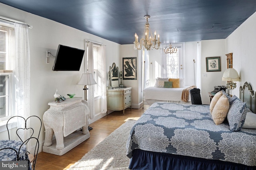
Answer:
MULTIPOLYGON (((169 45, 163 45, 163 49, 169 45)), ((163 77, 183 78, 183 44, 172 44, 172 47, 177 47, 177 53, 163 51, 163 77)))

